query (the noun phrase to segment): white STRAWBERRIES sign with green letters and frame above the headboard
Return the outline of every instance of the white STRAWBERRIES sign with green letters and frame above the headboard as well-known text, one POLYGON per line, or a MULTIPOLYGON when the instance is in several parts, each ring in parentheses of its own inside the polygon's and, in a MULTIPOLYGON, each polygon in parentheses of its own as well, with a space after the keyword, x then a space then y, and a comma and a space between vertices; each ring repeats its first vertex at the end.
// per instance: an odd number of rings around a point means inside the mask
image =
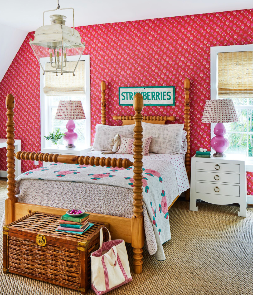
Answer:
POLYGON ((119 105, 132 106, 137 92, 143 96, 144 106, 175 105, 175 86, 119 87, 119 105))

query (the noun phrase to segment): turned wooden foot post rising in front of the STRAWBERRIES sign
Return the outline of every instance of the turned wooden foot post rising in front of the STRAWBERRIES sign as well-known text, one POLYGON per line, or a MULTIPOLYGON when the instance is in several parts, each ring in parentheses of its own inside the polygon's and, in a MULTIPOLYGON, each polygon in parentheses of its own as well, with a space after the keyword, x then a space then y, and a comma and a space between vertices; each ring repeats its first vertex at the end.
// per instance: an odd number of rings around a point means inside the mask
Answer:
POLYGON ((142 272, 142 247, 144 245, 144 223, 143 223, 143 196, 142 196, 142 158, 143 158, 143 142, 142 142, 142 132, 143 128, 141 126, 141 121, 143 116, 141 111, 143 109, 143 97, 140 93, 135 94, 133 99, 133 108, 135 110, 135 115, 133 117, 135 121, 134 131, 134 188, 133 188, 133 216, 132 216, 132 247, 133 247, 133 269, 134 273, 142 272))

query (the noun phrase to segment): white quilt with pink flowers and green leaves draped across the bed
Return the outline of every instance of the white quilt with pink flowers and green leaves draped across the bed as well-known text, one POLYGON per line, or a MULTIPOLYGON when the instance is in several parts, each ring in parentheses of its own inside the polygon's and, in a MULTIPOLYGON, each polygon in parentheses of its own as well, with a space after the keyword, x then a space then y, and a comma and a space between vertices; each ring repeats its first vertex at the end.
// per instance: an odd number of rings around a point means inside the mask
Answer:
MULTIPOLYGON (((101 167, 80 164, 52 163, 27 171, 16 178, 49 181, 97 183, 123 188, 133 188, 133 167, 101 167)), ((171 238, 168 218, 168 201, 163 176, 153 169, 143 168, 143 209, 147 211, 157 243, 156 258, 164 260, 162 244, 171 238)), ((148 241, 147 241, 148 242, 148 241)))

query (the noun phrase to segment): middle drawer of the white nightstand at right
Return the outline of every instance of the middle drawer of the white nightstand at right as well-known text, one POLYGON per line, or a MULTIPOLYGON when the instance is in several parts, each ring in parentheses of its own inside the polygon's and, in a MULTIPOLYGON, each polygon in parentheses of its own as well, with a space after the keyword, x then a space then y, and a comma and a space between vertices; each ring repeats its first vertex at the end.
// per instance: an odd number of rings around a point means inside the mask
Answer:
POLYGON ((240 174, 196 171, 196 180, 240 183, 240 174))

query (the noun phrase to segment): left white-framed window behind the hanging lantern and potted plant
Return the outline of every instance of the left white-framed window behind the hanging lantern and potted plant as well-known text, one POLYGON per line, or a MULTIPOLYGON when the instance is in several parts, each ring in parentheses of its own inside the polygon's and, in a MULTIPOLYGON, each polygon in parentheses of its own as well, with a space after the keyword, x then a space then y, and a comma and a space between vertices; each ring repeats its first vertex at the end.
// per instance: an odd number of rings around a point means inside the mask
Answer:
MULTIPOLYGON (((72 60, 76 60, 76 56, 72 56, 72 60)), ((78 95, 80 90, 69 92, 64 88, 63 83, 59 82, 57 78, 54 78, 52 85, 56 85, 52 89, 47 87, 47 78, 45 75, 42 75, 42 71, 40 73, 40 96, 41 96, 41 150, 45 147, 50 147, 51 142, 45 140, 44 135, 49 134, 49 132, 53 132, 57 128, 60 129, 60 132, 66 132, 66 124, 67 120, 56 120, 55 114, 57 111, 57 107, 60 100, 81 100, 82 106, 85 112, 86 119, 84 120, 75 120, 75 132, 78 134, 78 139, 76 144, 82 144, 84 147, 90 147, 90 56, 82 55, 80 61, 83 62, 82 71, 85 71, 83 75, 84 85, 84 94, 82 96, 78 95), (59 82, 59 83, 58 83, 59 82), (46 87, 45 87, 46 86, 46 87), (58 86, 58 87, 57 87, 58 86), (59 87, 60 86, 60 87, 59 87), (63 92, 61 95, 57 95, 60 91, 63 92)), ((41 58, 42 66, 46 66, 49 63, 49 58, 41 58)), ((80 64, 77 66, 77 70, 80 64)), ((76 71, 77 71, 76 70, 76 71)), ((47 74, 47 73, 46 73, 47 74)), ((55 74, 54 74, 55 75, 55 74)), ((68 75, 68 74, 63 74, 68 75)), ((71 77, 72 78, 72 77, 71 77)), ((77 74, 74 79, 77 78, 77 74)), ((75 80, 77 81, 77 80, 75 80)), ((70 85, 71 82, 67 81, 66 85, 70 85)), ((59 144, 65 144, 63 138, 59 140, 59 144)))

